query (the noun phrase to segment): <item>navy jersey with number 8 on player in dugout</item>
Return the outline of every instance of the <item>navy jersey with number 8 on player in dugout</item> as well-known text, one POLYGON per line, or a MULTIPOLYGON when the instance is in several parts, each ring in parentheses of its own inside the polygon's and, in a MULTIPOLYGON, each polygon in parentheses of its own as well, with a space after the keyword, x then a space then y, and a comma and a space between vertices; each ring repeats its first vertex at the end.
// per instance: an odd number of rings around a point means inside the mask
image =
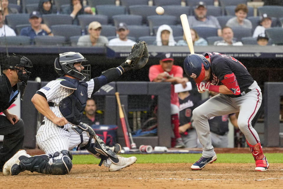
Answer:
POLYGON ((180 126, 191 122, 191 117, 192 117, 192 110, 195 109, 196 107, 196 100, 193 97, 193 95, 189 94, 187 97, 184 98, 184 100, 179 98, 179 122, 180 126))

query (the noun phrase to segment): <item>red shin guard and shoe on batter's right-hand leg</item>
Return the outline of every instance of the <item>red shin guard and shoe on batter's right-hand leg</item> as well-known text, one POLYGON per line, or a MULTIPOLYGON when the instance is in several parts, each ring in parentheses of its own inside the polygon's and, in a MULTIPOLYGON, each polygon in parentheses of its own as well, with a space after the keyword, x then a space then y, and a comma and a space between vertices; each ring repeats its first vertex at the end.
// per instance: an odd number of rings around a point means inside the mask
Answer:
POLYGON ((254 170, 266 171, 269 167, 269 164, 266 160, 266 157, 263 154, 260 143, 251 145, 247 141, 247 144, 250 146, 251 153, 253 154, 254 160, 256 161, 256 168, 254 170))

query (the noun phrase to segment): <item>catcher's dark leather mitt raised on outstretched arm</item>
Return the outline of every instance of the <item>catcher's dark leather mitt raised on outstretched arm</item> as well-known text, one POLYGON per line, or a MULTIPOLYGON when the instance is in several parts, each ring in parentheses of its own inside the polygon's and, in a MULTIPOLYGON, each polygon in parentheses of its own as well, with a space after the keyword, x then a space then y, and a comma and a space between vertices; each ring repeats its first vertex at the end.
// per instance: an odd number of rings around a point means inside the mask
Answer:
POLYGON ((134 44, 131 53, 126 58, 126 63, 131 66, 131 69, 141 69, 147 64, 148 51, 144 41, 134 44))

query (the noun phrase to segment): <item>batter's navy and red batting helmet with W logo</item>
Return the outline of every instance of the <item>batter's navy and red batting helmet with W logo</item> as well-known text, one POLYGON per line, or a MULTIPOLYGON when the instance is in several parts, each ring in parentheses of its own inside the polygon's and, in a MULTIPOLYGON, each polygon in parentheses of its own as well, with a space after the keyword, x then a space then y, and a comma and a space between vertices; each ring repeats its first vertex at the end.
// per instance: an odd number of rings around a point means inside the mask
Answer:
POLYGON ((205 77, 204 69, 209 69, 209 61, 201 54, 190 54, 184 60, 184 70, 188 76, 196 83, 203 81, 205 77))

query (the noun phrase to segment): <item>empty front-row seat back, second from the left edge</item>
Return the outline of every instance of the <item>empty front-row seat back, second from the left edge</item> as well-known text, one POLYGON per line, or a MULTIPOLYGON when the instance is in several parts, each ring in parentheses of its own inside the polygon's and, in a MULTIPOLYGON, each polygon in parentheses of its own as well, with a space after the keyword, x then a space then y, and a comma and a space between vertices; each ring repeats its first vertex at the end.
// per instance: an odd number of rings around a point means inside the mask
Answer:
POLYGON ((65 37, 38 35, 34 37, 33 43, 36 46, 63 46, 65 43, 65 37))

